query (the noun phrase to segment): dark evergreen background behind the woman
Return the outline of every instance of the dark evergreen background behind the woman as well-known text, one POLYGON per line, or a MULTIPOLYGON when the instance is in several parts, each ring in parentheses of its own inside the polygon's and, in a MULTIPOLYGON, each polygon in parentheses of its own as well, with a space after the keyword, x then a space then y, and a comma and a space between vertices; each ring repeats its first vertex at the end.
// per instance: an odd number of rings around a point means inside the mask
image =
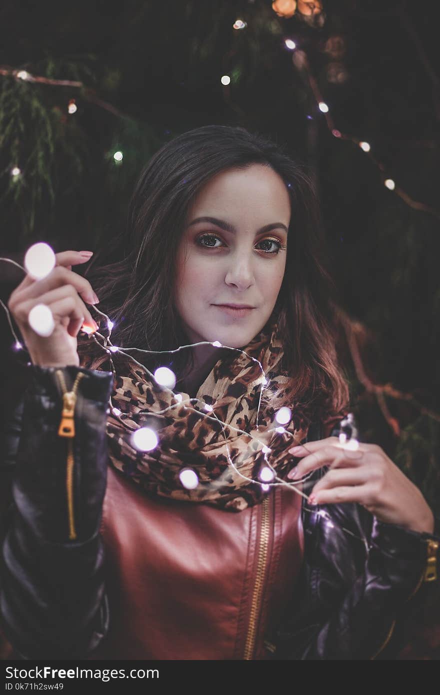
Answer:
MULTIPOLYGON (((316 177, 334 277, 352 321, 355 343, 341 350, 361 439, 382 445, 440 514, 434 8, 335 0, 310 22, 298 11, 278 17, 266 0, 3 1, 3 72, 83 87, 0 74, 0 255, 22 263, 27 247, 44 240, 56 251, 111 257, 140 170, 183 131, 238 124, 286 145, 316 177), (238 18, 245 28, 233 28, 238 18), (345 138, 332 135, 310 76, 345 138), (359 140, 370 144, 368 154, 359 140), (13 166, 22 170, 16 179, 13 166), (355 371, 353 345, 366 377, 355 371), (367 379, 388 385, 382 400, 367 379)), ((0 261, 0 278, 7 302, 22 272, 0 261)), ((1 400, 9 409, 26 386, 28 358, 13 351, 0 311, 1 400)))

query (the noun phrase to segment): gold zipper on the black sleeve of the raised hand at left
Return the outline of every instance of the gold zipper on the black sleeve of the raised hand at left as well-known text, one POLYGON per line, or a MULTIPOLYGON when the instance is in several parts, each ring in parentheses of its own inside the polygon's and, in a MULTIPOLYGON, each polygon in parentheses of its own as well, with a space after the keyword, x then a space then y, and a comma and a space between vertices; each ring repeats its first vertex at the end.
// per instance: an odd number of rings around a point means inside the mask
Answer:
POLYGON ((73 469, 74 469, 74 452, 73 439, 75 436, 75 421, 74 411, 76 405, 76 391, 78 390, 79 382, 84 376, 83 372, 76 375, 76 379, 72 391, 67 391, 64 374, 61 370, 56 370, 60 381, 61 390, 63 391, 63 413, 61 415, 60 427, 58 428, 58 436, 67 437, 67 467, 66 467, 66 491, 67 491, 67 509, 69 513, 69 539, 76 539, 75 519, 74 519, 74 503, 73 503, 73 469))

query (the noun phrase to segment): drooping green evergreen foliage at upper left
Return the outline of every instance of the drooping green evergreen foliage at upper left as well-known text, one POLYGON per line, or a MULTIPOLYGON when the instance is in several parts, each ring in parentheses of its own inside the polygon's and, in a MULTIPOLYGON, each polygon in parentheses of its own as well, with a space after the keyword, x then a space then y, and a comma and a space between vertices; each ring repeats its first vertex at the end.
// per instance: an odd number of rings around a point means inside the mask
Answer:
MULTIPOLYGON (((64 61, 64 67, 65 79, 81 77, 82 71, 71 61, 64 61)), ((47 59, 45 70, 44 65, 40 70, 51 79, 60 72, 52 59, 47 59)), ((67 178, 74 186, 88 166, 84 133, 75 119, 67 117, 70 97, 72 90, 68 97, 60 98, 49 85, 14 76, 0 81, 0 204, 12 203, 20 211, 24 238, 35 231, 39 212, 44 211, 51 219, 56 196, 65 192, 58 185, 60 181, 67 178), (63 101, 64 111, 58 105, 63 101), (11 175, 13 167, 21 170, 18 176, 11 175)))

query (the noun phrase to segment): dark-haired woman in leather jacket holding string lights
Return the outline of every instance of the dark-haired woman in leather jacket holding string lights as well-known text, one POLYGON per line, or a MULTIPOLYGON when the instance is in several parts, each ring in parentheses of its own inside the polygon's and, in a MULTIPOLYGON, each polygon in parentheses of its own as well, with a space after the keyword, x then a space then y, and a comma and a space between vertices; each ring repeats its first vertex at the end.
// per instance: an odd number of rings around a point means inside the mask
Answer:
POLYGON ((117 243, 92 284, 63 252, 8 304, 32 359, 3 544, 17 653, 383 656, 437 579, 439 520, 382 449, 329 436, 348 389, 309 179, 244 129, 183 133, 117 243))

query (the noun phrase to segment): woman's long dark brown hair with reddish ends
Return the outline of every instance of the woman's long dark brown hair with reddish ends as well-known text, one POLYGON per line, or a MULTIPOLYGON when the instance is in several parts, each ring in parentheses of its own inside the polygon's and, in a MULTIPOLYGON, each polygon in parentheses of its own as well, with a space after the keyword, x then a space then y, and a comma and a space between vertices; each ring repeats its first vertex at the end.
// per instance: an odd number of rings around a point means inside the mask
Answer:
MULTIPOLYGON (((348 384, 336 355, 336 290, 324 261, 316 193, 304 168, 266 137, 210 125, 163 145, 140 174, 125 233, 113 240, 117 261, 97 267, 97 254, 86 274, 114 323, 113 344, 155 351, 187 344, 174 306, 174 269, 188 207, 215 174, 253 163, 272 167, 291 196, 286 271, 274 309, 285 329, 283 368, 292 375, 284 391, 321 416, 339 413, 348 403, 348 384)), ((92 338, 80 336, 78 351, 82 366, 110 369, 107 352, 92 338)), ((130 354, 150 370, 172 366, 179 380, 193 367, 191 350, 130 354)), ((111 357, 122 367, 123 355, 111 357)))

